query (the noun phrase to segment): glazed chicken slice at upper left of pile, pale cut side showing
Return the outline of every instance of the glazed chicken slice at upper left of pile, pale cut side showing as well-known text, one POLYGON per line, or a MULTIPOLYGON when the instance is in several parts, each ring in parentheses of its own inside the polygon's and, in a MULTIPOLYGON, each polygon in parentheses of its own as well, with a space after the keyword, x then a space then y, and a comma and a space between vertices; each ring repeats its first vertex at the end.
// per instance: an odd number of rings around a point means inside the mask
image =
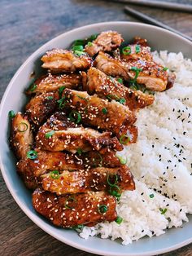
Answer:
POLYGON ((48 68, 51 73, 76 72, 88 69, 91 58, 87 55, 78 56, 72 51, 53 49, 47 51, 41 58, 42 68, 48 68))

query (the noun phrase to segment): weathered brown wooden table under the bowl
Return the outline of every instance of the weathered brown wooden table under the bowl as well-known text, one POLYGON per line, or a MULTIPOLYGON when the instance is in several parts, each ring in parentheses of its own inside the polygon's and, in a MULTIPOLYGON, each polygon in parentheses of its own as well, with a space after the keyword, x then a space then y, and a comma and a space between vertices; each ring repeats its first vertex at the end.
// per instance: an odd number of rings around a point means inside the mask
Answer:
MULTIPOLYGON (((171 1, 170 1, 171 2, 171 1)), ((189 1, 178 1, 191 3, 189 1)), ((192 37, 192 15, 135 7, 192 37)), ((39 46, 60 33, 85 24, 134 20, 123 5, 89 0, 2 0, 0 11, 0 99, 11 77, 39 46)), ((0 176, 0 255, 93 255, 55 240, 37 227, 16 205, 0 176)), ((164 256, 190 256, 192 245, 164 256)))

